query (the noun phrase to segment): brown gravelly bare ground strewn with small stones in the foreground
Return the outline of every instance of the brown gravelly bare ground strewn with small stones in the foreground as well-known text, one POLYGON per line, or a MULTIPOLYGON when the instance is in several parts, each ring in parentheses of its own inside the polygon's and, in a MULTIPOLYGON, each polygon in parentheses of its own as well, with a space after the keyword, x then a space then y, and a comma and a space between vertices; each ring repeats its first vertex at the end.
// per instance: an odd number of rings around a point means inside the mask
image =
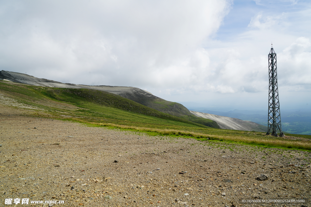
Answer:
POLYGON ((21 205, 6 205, 9 198, 29 198, 29 206, 310 206, 310 152, 148 136, 21 111, 0 105, 0 206, 21 205), (250 199, 279 201, 241 201, 250 199))

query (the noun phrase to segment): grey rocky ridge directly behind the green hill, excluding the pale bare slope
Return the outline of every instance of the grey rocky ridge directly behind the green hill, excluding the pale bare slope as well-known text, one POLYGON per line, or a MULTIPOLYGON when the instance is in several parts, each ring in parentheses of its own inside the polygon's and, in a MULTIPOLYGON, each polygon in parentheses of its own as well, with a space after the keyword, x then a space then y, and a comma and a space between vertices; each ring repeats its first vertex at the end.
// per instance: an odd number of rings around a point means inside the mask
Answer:
POLYGON ((12 81, 15 83, 24 83, 41 87, 76 88, 76 89, 87 88, 110 92, 169 115, 177 116, 179 118, 183 118, 198 124, 203 124, 205 126, 219 128, 218 124, 215 121, 196 117, 193 114, 191 114, 189 110, 183 105, 176 102, 166 101, 140 88, 123 87, 123 86, 89 86, 89 85, 77 85, 72 83, 61 83, 54 80, 40 79, 31 75, 4 70, 0 71, 0 79, 12 81))

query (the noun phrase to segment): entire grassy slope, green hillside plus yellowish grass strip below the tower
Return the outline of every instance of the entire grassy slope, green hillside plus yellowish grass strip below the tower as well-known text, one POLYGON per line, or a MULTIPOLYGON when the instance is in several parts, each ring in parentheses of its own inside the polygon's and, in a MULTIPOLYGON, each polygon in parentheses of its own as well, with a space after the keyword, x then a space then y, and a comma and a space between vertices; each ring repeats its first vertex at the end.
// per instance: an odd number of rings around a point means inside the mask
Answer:
MULTIPOLYGON (((134 101, 114 94, 88 89, 40 88, 0 81, 0 93, 15 100, 39 107, 35 116, 77 120, 95 126, 128 128, 153 135, 195 137, 200 140, 219 140, 268 147, 311 150, 310 141, 286 140, 265 133, 210 128, 188 120, 163 114, 134 101), (49 105, 55 102, 59 104, 49 105), (62 103, 80 108, 60 107, 62 103), (66 115, 67 118, 64 118, 66 115)), ((308 135, 291 135, 311 139, 308 135)))

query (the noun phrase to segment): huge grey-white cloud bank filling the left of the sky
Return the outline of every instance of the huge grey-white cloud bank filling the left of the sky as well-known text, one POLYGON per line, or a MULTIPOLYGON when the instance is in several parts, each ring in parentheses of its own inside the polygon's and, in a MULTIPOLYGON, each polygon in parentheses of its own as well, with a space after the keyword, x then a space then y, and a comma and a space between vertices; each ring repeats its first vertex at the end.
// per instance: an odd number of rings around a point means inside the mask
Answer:
POLYGON ((192 69, 202 71, 208 65, 208 57, 197 47, 219 28, 230 2, 17 1, 6 5, 7 10, 0 13, 8 23, 1 25, 5 35, 0 52, 6 56, 1 62, 7 70, 35 71, 33 75, 40 77, 84 84, 156 86, 170 85, 167 79, 185 83, 196 79, 199 71, 192 69), (105 78, 93 79, 88 73, 105 78))

